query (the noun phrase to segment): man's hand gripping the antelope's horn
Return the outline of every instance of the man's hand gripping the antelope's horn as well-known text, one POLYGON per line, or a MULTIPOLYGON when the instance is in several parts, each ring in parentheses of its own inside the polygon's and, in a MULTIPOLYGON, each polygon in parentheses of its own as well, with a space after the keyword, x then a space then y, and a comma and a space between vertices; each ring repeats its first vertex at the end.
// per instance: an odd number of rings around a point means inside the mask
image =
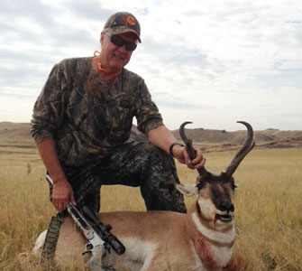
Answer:
POLYGON ((187 164, 188 168, 191 169, 200 169, 206 164, 206 158, 201 153, 200 149, 197 149, 197 157, 191 161, 186 151, 186 147, 180 145, 173 146, 173 155, 178 162, 181 164, 187 164))

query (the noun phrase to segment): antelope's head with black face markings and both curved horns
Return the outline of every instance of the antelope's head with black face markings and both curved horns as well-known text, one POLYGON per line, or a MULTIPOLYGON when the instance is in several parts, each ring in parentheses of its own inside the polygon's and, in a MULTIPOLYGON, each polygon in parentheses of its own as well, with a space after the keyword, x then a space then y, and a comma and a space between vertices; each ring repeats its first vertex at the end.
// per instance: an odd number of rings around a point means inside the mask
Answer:
MULTIPOLYGON (((196 157, 196 150, 193 148, 192 141, 187 138, 184 132, 184 127, 190 122, 183 123, 179 128, 181 138, 186 144, 187 152, 190 159, 196 157)), ((197 195, 197 210, 202 219, 211 222, 215 225, 227 225, 233 222, 233 192, 236 189, 236 184, 233 180, 233 173, 238 165, 243 161, 243 158, 248 154, 254 143, 252 142, 252 126, 244 121, 238 121, 247 127, 247 137, 239 152, 233 158, 233 161, 225 172, 215 175, 206 171, 206 168, 198 170, 196 185, 186 184, 178 185, 178 191, 184 195, 197 195)))

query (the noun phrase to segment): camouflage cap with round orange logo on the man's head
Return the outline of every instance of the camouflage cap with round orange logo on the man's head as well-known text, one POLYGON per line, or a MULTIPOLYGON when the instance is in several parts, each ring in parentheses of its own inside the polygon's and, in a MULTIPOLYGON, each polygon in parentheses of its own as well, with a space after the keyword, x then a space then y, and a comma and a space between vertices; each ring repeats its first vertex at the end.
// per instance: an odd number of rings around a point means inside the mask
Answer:
POLYGON ((120 12, 111 15, 105 23, 104 29, 111 28, 115 34, 134 33, 141 42, 141 26, 133 14, 120 12))

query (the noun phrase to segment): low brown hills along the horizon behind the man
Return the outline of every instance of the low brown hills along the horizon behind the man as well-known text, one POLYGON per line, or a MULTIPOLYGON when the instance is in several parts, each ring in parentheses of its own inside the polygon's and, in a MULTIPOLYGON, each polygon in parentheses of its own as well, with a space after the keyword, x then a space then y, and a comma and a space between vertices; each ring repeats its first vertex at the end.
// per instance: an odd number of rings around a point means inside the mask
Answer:
MULTIPOLYGON (((23 145, 34 147, 30 135, 31 125, 29 123, 0 122, 0 145, 23 145)), ((178 130, 172 131, 173 135, 180 142, 178 130)), ((215 144, 215 145, 241 145, 246 136, 246 130, 228 132, 225 130, 211 130, 204 128, 187 129, 186 135, 191 138, 194 144, 215 144)), ((142 135, 133 126, 132 138, 144 140, 142 135)), ((278 129, 266 129, 254 131, 256 145, 266 147, 302 147, 302 131, 280 131, 278 129)))

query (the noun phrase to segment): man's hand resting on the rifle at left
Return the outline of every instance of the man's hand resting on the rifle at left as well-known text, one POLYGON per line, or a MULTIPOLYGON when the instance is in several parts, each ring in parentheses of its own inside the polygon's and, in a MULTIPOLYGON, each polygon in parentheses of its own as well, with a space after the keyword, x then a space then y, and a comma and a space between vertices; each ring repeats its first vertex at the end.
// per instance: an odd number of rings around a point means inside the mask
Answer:
POLYGON ((67 181, 53 183, 52 204, 59 212, 65 210, 69 201, 77 205, 72 188, 67 181))

